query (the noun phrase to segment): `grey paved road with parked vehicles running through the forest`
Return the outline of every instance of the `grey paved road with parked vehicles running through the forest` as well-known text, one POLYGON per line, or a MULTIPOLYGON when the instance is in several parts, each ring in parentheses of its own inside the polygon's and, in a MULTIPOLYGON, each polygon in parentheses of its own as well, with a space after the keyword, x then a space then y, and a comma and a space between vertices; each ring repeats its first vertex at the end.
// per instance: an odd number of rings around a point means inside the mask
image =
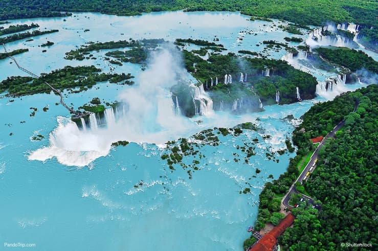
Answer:
MULTIPOLYGON (((359 105, 359 101, 357 101, 355 104, 354 104, 354 109, 353 111, 355 111, 357 109, 359 105)), ((303 169, 302 173, 299 175, 299 177, 294 181, 293 185, 290 187, 288 193, 283 197, 281 203, 286 207, 286 208, 293 208, 292 206, 289 205, 288 201, 290 200, 290 195, 292 193, 298 193, 298 191, 295 189, 295 186, 294 184, 296 182, 302 182, 303 179, 306 177, 306 173, 309 172, 309 169, 310 167, 314 164, 315 162, 315 159, 318 158, 319 156, 319 150, 324 146, 324 143, 326 142, 327 139, 329 138, 335 138, 335 135, 336 135, 336 132, 338 130, 340 130, 341 127, 343 127, 345 124, 345 120, 341 121, 337 126, 335 126, 335 128, 333 128, 333 130, 331 132, 329 132, 325 137, 324 139, 322 140, 322 142, 320 142, 318 148, 315 150, 315 152, 313 153, 313 155, 311 156, 310 158, 310 161, 308 162, 308 164, 306 165, 306 167, 303 169)), ((315 166, 316 167, 316 166, 315 166)), ((314 168, 315 169, 315 168, 314 168)), ((314 171, 314 170, 313 170, 314 171)), ((308 197, 308 196, 305 196, 303 195, 304 197, 307 197, 309 198, 311 201, 313 201, 312 198, 308 197)))

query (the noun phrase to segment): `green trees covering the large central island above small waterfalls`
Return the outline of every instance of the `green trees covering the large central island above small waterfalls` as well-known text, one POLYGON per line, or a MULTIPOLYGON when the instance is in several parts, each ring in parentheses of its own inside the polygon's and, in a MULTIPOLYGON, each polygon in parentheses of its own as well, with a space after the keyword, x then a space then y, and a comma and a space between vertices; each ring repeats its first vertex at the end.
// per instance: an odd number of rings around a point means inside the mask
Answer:
MULTIPOLYGON (((275 103, 276 90, 279 90, 281 94, 280 103, 296 102, 296 86, 301 90, 303 99, 315 97, 316 79, 307 73, 294 69, 285 61, 243 58, 237 57, 233 53, 227 55, 212 54, 207 60, 204 60, 186 50, 183 51, 183 54, 186 69, 200 82, 206 83, 208 81, 210 83, 210 77, 213 80, 215 77, 218 78, 217 86, 208 87, 214 104, 223 100, 225 103, 231 103, 231 107, 234 100, 242 97, 243 100, 250 99, 254 107, 258 108, 258 97, 251 91, 252 86, 253 91, 264 104, 275 103), (243 66, 240 66, 240 61, 243 62, 243 66), (270 69, 271 77, 261 76, 262 71, 266 68, 270 69), (235 78, 240 76, 240 72, 247 73, 249 76, 248 83, 237 83, 237 80, 234 80, 236 82, 234 84, 222 83, 226 74, 231 74, 235 78), (256 98, 257 100, 255 100, 256 98)), ((176 92, 173 91, 173 93, 176 92)), ((179 102, 184 99, 179 97, 179 102)), ((180 106, 184 107, 185 104, 180 104, 180 106)))

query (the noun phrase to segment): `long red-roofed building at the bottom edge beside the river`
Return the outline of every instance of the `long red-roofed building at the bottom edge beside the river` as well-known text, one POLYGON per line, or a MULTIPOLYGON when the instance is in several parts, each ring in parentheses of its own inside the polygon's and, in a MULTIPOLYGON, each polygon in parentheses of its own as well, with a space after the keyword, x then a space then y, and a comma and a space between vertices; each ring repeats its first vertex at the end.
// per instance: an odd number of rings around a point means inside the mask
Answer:
POLYGON ((268 234, 264 235, 258 242, 249 249, 250 251, 265 251, 273 250, 277 244, 277 238, 285 232, 287 227, 294 223, 295 217, 292 213, 288 213, 285 218, 283 218, 280 223, 274 227, 268 234))

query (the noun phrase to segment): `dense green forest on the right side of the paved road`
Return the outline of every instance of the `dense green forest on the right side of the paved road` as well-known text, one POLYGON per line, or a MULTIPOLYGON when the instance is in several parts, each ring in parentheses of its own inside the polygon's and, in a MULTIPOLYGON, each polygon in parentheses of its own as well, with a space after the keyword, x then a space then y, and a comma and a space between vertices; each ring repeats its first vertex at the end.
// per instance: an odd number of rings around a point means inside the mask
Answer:
MULTIPOLYGON (((298 208, 294 227, 285 231, 279 242, 285 249, 335 250, 341 242, 377 245, 375 209, 377 207, 378 86, 370 85, 310 109, 304 128, 318 121, 315 116, 329 110, 336 114, 343 105, 359 106, 355 112, 343 112, 346 119, 336 139, 328 140, 319 152, 318 167, 304 188, 322 209, 298 208), (342 99, 342 102, 338 99, 342 99), (333 103, 330 106, 328 103, 333 103), (321 108, 321 109, 319 109, 321 108)), ((310 129, 310 128, 308 128, 310 129)), ((362 248, 361 250, 368 250, 362 248)))

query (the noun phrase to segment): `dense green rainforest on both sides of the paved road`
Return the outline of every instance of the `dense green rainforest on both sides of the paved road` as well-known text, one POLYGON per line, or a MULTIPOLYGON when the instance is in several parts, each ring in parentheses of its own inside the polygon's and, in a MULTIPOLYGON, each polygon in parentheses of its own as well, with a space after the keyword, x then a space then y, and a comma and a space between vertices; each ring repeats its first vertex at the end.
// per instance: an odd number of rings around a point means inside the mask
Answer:
MULTIPOLYGON (((378 86, 348 92, 333 101, 314 105, 303 115, 303 123, 293 132, 298 147, 287 172, 265 184, 260 194, 255 230, 272 222, 280 210, 280 198, 299 174, 297 165, 314 150, 309 139, 325 135, 338 123, 345 125, 319 152, 318 166, 303 182, 305 192, 321 204, 321 210, 302 203, 297 217, 279 243, 290 250, 341 250, 341 243, 372 243, 376 246, 376 191, 378 189, 378 86), (354 106, 357 109, 353 111, 354 106)), ((249 240, 247 240, 249 243, 249 240)), ((369 248, 361 248, 369 250, 369 248)))

